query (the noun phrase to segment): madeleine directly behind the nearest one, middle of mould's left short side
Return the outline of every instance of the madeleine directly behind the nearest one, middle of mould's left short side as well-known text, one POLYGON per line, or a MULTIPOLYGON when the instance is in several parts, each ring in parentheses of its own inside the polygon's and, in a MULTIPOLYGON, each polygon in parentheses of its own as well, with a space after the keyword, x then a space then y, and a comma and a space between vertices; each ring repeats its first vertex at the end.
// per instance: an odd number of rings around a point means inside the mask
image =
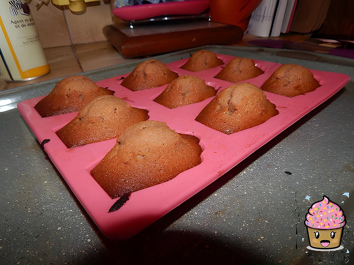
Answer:
POLYGON ((72 148, 118 137, 129 126, 148 118, 147 110, 131 107, 116 96, 99 96, 56 134, 72 148))

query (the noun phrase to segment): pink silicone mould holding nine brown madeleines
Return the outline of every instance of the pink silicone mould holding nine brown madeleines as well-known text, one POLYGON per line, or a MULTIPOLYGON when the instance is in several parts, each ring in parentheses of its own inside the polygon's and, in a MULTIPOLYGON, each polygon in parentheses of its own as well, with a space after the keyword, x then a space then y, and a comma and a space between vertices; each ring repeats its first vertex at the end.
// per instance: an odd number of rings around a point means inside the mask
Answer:
MULTIPOLYGON (((217 55, 225 64, 234 58, 229 55, 217 55)), ((222 69, 221 66, 192 73, 179 68, 186 61, 187 59, 182 59, 167 66, 179 75, 187 74, 203 78, 207 84, 220 87, 219 91, 232 84, 213 78, 222 69)), ((260 87, 280 64, 258 60, 255 62, 264 74, 243 82, 250 82, 260 87)), ((124 99, 131 106, 147 109, 150 119, 166 122, 178 133, 199 137, 203 148, 200 165, 182 172, 171 181, 132 193, 125 205, 111 213, 108 213, 108 210, 117 199, 111 199, 104 192, 90 175, 90 170, 115 145, 116 139, 67 149, 55 132, 73 119, 77 112, 42 118, 34 106, 43 97, 19 103, 18 110, 39 142, 50 139, 50 142, 45 144, 45 151, 98 228, 105 236, 122 240, 137 234, 215 181, 259 147, 329 99, 349 81, 349 76, 344 74, 311 71, 319 80, 321 87, 293 98, 265 92, 267 98, 276 105, 279 114, 261 125, 231 135, 213 130, 194 120, 211 98, 171 110, 153 101, 167 85, 132 92, 120 85, 122 82, 119 80, 120 77, 126 77, 128 73, 97 82, 101 87, 114 90, 115 96, 124 99)))

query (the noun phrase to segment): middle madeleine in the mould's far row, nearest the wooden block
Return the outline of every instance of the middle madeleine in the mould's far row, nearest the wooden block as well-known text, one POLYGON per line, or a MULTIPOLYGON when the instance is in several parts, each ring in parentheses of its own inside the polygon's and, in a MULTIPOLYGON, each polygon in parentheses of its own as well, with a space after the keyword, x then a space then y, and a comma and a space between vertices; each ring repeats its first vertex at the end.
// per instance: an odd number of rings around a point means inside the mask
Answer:
POLYGON ((160 87, 178 77, 164 63, 150 59, 138 64, 121 85, 132 91, 160 87))

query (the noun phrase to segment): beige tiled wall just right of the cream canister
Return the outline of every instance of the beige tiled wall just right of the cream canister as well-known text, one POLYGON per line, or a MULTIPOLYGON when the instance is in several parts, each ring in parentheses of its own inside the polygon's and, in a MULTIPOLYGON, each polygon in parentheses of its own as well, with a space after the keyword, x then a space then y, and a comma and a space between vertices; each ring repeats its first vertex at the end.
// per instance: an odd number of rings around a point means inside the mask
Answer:
POLYGON ((37 1, 29 4, 43 48, 104 41, 102 29, 113 23, 110 5, 86 8, 86 13, 74 15, 59 10, 51 3, 36 10, 37 1))

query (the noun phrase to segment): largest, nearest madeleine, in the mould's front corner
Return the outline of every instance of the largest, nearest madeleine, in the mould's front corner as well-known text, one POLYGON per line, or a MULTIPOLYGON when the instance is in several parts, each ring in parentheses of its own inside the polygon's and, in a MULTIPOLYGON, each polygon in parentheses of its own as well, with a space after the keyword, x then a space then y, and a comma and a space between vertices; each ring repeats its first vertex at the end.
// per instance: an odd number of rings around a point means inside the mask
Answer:
POLYGON ((127 128, 116 145, 91 170, 111 198, 169 181, 200 164, 199 139, 147 120, 127 128))

